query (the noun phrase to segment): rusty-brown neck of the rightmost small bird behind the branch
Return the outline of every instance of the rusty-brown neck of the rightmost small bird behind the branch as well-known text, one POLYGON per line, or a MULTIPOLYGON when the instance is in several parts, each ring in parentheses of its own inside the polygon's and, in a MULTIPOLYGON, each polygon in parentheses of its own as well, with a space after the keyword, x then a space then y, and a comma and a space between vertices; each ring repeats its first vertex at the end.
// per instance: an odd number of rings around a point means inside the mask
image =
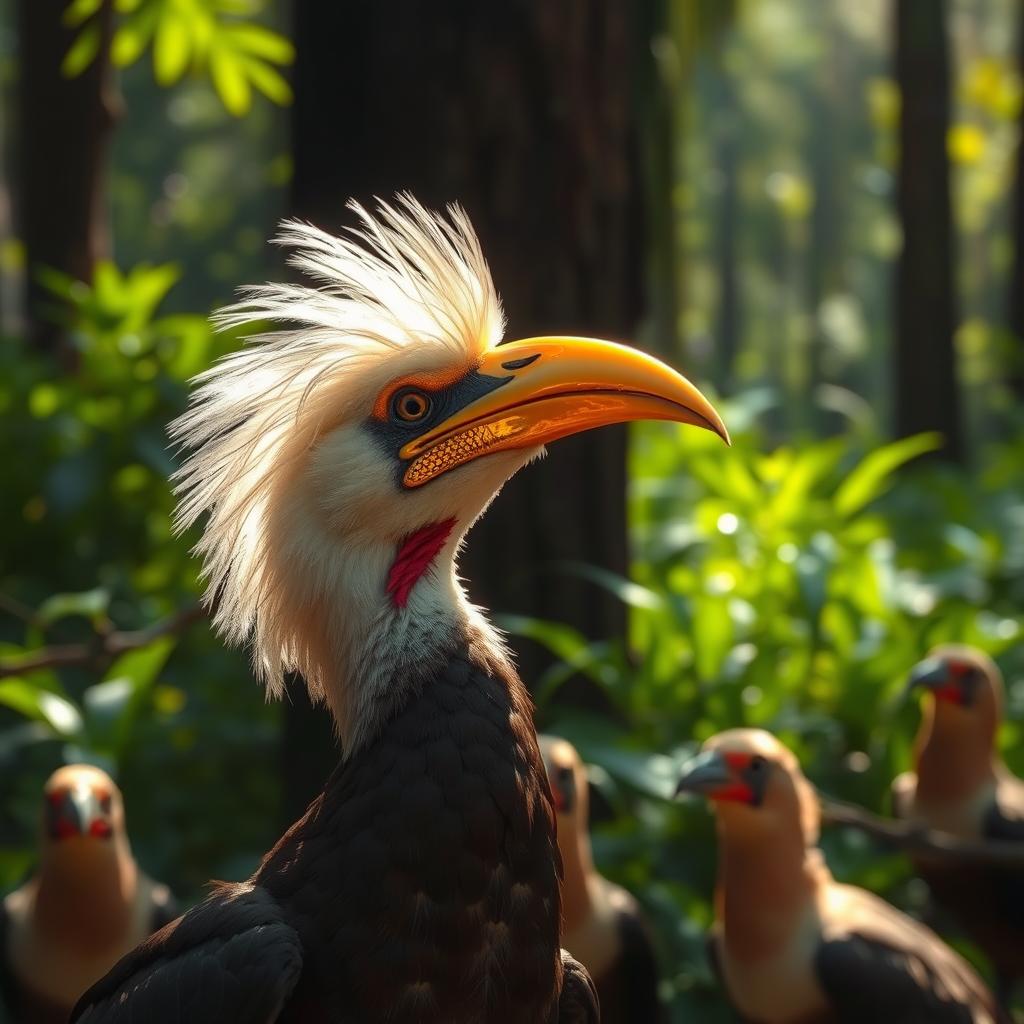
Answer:
POLYGON ((918 734, 918 796, 931 800, 969 800, 995 784, 1000 761, 992 730, 965 728, 934 710, 918 734))

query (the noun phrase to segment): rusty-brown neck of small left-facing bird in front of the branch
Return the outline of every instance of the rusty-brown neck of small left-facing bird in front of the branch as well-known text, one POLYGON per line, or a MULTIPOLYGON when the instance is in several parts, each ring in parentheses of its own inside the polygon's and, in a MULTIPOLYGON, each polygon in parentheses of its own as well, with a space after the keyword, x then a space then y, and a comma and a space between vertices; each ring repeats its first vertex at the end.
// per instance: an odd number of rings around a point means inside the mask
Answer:
POLYGON ((761 838, 722 836, 716 916, 730 956, 748 963, 776 953, 814 913, 831 876, 799 829, 761 838))

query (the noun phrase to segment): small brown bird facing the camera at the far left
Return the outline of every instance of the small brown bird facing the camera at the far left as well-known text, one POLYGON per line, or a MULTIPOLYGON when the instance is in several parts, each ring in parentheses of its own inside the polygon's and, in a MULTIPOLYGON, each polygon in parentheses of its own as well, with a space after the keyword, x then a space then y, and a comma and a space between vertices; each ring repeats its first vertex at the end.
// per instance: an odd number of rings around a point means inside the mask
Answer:
POLYGON ((89 985, 178 915, 168 887, 132 856, 106 772, 58 768, 41 817, 39 865, 0 902, 0 1004, 12 1024, 66 1024, 89 985))

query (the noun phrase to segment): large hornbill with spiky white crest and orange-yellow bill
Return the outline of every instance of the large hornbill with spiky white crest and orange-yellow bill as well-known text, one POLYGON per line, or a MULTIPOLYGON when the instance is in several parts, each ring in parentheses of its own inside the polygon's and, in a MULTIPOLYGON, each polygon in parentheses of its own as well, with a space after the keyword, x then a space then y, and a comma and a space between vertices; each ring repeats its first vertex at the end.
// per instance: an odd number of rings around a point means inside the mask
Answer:
POLYGON ((469 218, 408 194, 340 236, 287 222, 306 281, 244 293, 249 344, 198 379, 172 438, 177 526, 213 621, 271 695, 327 706, 339 760, 245 882, 129 954, 76 1020, 597 1021, 561 950, 554 810, 527 690, 456 557, 560 437, 635 419, 728 432, 636 349, 504 317, 469 218))

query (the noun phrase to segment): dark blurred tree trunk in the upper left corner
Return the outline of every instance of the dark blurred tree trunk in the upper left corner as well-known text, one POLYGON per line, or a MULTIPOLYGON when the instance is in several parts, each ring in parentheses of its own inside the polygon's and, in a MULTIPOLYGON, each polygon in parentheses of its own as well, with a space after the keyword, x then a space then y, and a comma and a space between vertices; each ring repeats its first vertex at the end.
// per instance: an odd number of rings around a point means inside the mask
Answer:
POLYGON ((32 341, 63 355, 53 296, 36 280, 40 266, 89 281, 110 252, 106 160, 119 100, 109 59, 113 0, 94 15, 99 51, 76 78, 60 63, 79 30, 62 25, 67 0, 17 0, 20 80, 17 98, 15 226, 26 250, 26 314, 32 341))

